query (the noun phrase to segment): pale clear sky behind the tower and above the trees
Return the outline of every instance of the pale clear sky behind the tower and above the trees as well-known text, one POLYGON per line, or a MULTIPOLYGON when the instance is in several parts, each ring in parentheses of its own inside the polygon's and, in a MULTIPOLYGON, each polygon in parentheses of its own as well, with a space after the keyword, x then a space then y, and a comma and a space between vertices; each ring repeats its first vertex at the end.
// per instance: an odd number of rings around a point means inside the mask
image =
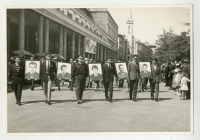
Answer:
MULTIPOLYGON (((130 15, 130 8, 108 8, 111 16, 118 25, 118 33, 128 36, 126 21, 130 15)), ((190 22, 190 9, 187 7, 161 7, 161 8, 131 8, 133 24, 133 36, 141 42, 155 44, 157 35, 163 33, 163 29, 170 27, 176 34, 187 31, 189 27, 183 22, 190 22)))

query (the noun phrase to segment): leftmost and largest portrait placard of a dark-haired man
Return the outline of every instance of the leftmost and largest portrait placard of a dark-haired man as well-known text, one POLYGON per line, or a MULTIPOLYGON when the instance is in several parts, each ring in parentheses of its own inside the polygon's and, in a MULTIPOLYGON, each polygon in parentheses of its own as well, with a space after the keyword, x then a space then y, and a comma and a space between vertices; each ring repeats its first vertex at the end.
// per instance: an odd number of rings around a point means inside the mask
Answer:
POLYGON ((25 79, 40 79, 40 61, 26 60, 25 61, 25 79))

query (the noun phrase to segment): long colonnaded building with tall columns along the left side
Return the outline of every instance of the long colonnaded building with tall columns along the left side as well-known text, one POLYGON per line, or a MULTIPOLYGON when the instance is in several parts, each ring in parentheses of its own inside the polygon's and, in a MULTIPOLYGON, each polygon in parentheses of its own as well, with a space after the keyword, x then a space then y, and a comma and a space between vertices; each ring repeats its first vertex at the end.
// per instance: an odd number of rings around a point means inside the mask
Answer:
POLYGON ((7 9, 8 55, 21 49, 103 61, 117 57, 108 36, 86 8, 7 9))

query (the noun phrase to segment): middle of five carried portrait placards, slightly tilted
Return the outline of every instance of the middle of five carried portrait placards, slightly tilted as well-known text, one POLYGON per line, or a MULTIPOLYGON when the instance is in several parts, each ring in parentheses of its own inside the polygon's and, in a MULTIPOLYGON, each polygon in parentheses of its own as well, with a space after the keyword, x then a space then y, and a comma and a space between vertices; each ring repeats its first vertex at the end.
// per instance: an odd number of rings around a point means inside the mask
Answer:
POLYGON ((88 64, 90 80, 92 81, 101 81, 103 80, 102 68, 100 63, 88 64))

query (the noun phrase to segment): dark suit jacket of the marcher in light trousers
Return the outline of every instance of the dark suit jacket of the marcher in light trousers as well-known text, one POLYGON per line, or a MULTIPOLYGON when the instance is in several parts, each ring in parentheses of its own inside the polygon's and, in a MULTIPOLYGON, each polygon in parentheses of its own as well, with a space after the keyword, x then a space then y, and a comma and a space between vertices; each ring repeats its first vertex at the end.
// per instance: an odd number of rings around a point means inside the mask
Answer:
POLYGON ((56 65, 53 61, 50 61, 50 70, 49 73, 47 73, 46 70, 46 60, 44 60, 43 63, 41 63, 41 81, 42 82, 47 82, 48 81, 48 76, 50 76, 51 81, 55 79, 55 73, 56 73, 56 65))

